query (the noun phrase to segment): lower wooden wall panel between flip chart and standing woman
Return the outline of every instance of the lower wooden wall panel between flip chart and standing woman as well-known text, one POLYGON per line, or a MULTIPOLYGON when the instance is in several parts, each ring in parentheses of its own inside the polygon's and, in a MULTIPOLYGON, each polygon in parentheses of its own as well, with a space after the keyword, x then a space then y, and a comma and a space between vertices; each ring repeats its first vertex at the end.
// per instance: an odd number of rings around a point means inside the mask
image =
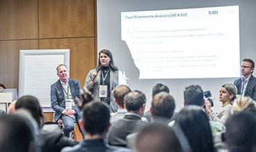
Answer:
POLYGON ((70 49, 70 76, 80 80, 81 87, 89 69, 95 67, 94 38, 42 39, 40 49, 70 49))

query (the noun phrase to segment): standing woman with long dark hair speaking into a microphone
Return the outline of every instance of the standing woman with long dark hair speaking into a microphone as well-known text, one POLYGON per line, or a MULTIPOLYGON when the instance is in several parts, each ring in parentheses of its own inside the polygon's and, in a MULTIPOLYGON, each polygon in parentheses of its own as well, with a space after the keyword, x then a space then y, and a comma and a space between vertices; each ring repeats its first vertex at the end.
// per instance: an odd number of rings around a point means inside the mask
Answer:
POLYGON ((118 67, 113 64, 111 52, 109 50, 101 50, 99 52, 98 67, 89 71, 84 87, 91 91, 95 100, 107 103, 113 113, 118 111, 118 106, 111 94, 112 89, 116 86, 118 86, 118 67))

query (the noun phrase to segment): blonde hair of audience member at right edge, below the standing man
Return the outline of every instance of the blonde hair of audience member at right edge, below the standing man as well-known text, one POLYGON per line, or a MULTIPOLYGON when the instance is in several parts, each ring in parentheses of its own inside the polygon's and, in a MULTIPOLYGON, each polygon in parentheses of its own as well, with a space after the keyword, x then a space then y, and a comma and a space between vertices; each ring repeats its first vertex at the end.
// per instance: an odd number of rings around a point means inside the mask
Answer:
POLYGON ((248 96, 246 97, 239 96, 234 100, 234 103, 233 103, 233 112, 237 112, 237 111, 255 112, 256 111, 255 101, 248 96))

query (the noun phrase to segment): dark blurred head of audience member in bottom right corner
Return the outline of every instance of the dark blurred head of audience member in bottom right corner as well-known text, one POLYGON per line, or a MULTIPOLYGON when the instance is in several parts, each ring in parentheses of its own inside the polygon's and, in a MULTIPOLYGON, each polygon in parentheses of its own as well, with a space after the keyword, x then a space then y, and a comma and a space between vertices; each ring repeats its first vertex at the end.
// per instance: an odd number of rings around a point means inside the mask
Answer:
POLYGON ((234 113, 226 122, 224 140, 230 152, 256 151, 256 120, 251 113, 234 113))

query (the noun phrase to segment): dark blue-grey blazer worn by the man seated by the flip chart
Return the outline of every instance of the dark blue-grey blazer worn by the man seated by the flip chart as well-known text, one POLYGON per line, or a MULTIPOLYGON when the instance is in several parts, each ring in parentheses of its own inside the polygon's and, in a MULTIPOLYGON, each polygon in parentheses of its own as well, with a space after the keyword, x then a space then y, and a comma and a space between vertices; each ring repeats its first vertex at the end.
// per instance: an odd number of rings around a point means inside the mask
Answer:
MULTIPOLYGON (((79 81, 69 78, 68 85, 71 89, 73 100, 75 100, 76 96, 77 98, 80 98, 81 94, 79 81)), ((57 80, 56 83, 51 85, 51 107, 55 111, 54 120, 57 121, 60 118, 60 116, 62 116, 62 111, 66 109, 65 96, 63 92, 62 83, 60 83, 60 80, 57 80)), ((77 105, 75 106, 74 110, 77 111, 77 115, 80 114, 80 109, 77 107, 77 105)))

